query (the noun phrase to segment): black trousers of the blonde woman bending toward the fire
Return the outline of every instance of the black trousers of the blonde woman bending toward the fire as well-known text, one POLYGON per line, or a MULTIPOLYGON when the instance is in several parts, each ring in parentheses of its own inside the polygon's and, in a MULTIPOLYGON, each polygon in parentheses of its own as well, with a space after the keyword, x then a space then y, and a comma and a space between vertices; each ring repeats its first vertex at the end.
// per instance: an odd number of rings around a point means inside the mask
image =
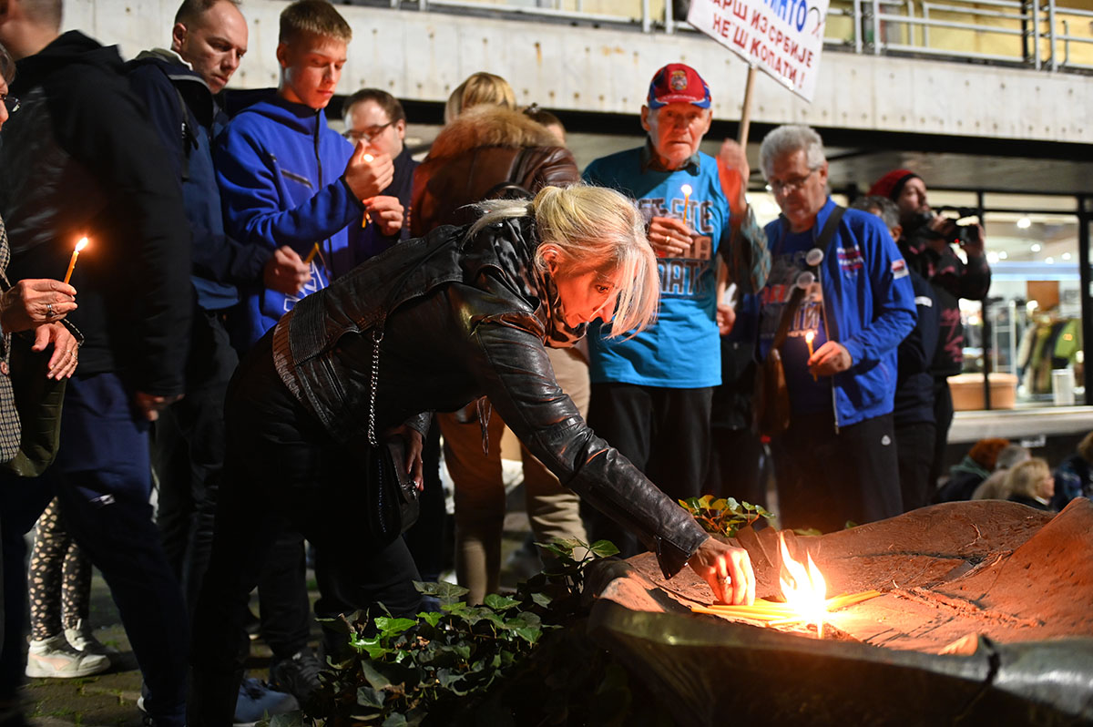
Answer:
POLYGON ((346 610, 384 603, 412 615, 421 595, 402 538, 367 531, 359 449, 332 442, 273 370, 266 337, 240 364, 225 407, 227 456, 212 556, 195 614, 190 727, 231 724, 246 631, 243 607, 279 533, 293 529, 324 562, 324 599, 346 610))

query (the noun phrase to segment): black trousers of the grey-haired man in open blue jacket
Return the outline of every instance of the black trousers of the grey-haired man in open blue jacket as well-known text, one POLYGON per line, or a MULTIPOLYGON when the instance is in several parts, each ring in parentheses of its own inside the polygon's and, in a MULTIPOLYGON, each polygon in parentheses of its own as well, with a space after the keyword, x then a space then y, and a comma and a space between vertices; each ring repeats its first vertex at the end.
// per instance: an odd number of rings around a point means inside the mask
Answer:
POLYGON ((833 532, 903 512, 892 414, 837 434, 830 413, 794 414, 772 444, 781 527, 833 532))

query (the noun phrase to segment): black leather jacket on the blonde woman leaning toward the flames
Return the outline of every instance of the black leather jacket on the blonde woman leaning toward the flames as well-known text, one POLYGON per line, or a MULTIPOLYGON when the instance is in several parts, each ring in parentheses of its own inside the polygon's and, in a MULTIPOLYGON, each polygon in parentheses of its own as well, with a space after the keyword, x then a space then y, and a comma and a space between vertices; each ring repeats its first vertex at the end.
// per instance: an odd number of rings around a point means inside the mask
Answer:
POLYGON ((634 531, 666 577, 706 539, 681 507, 588 427, 557 386, 536 310, 520 294, 520 260, 536 244, 530 219, 473 237, 442 226, 357 267, 303 298, 273 332, 277 371, 336 441, 364 441, 374 333, 375 426, 455 411, 487 396, 561 480, 634 531))

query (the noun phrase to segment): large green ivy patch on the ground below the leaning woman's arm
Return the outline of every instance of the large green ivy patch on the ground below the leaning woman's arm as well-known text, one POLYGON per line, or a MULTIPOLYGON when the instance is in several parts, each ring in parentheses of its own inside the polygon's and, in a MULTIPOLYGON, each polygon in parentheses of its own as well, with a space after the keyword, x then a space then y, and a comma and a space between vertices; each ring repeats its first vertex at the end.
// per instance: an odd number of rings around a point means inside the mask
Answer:
POLYGON ((321 724, 348 718, 375 727, 414 727, 426 716, 432 724, 456 724, 472 708, 478 717, 482 710, 510 714, 489 699, 491 688, 517 673, 546 632, 579 613, 588 563, 619 552, 606 540, 539 544, 549 566, 521 584, 515 598, 491 594, 481 606, 470 606, 462 600, 466 588, 415 583, 421 594, 439 601, 439 611, 416 619, 354 614, 329 622, 328 629, 344 633, 350 652, 321 675, 307 716, 321 724))

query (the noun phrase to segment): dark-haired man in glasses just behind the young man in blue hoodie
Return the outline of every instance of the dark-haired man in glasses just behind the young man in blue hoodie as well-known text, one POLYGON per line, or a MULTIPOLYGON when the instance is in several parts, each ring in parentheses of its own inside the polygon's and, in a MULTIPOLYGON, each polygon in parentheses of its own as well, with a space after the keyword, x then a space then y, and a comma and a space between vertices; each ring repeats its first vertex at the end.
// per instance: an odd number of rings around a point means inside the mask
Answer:
POLYGON ((345 99, 344 137, 352 144, 363 141, 387 154, 395 164, 395 176, 369 209, 386 225, 367 225, 353 241, 356 261, 379 255, 400 239, 410 237, 410 198, 413 192, 413 171, 418 162, 402 143, 407 134, 407 115, 402 104, 380 89, 362 89, 345 99))

